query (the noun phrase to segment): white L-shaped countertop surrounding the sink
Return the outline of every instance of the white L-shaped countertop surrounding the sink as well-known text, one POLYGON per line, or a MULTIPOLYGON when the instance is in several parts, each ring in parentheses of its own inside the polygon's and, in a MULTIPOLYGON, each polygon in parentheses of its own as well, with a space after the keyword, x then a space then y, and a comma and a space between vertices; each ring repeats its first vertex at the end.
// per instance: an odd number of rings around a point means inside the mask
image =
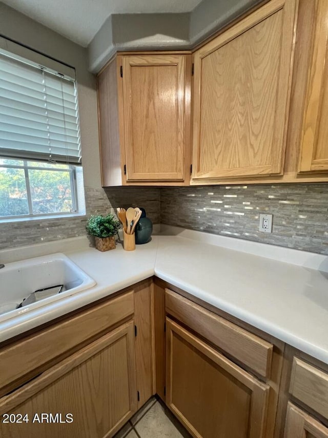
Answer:
POLYGON ((0 341, 156 275, 328 364, 328 257, 173 227, 168 232, 133 252, 57 242, 52 252, 64 252, 97 285, 0 323, 0 341))

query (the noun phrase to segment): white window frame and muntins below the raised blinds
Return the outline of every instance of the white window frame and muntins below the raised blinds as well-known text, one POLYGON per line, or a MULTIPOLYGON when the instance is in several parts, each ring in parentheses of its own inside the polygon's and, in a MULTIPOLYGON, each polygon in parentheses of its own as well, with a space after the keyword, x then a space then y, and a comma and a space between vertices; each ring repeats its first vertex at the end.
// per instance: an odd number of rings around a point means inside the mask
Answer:
MULTIPOLYGON (((8 157, 0 157, 0 159, 10 159, 8 157)), ((49 219, 49 218, 60 218, 60 217, 74 217, 74 216, 80 216, 79 208, 78 208, 78 194, 77 194, 77 184, 76 184, 76 166, 74 164, 67 164, 68 169, 59 169, 54 167, 38 167, 29 165, 31 160, 24 160, 24 159, 18 159, 17 157, 11 158, 15 161, 23 161, 23 165, 18 164, 0 164, 0 168, 14 168, 14 169, 22 169, 24 170, 24 176, 25 176, 25 184, 26 184, 26 196, 27 196, 27 203, 28 203, 28 210, 29 214, 27 215, 10 215, 10 216, 0 216, 0 223, 1 222, 11 222, 11 221, 17 221, 17 220, 30 220, 30 219, 49 219), (33 214, 33 200, 31 195, 31 187, 30 187, 30 180, 29 180, 29 170, 47 170, 50 172, 68 172, 69 178, 70 178, 70 188, 71 188, 71 197, 72 197, 72 210, 70 212, 51 212, 51 213, 37 213, 33 214)), ((35 161, 34 161, 35 162, 35 161)), ((46 163, 43 161, 43 163, 46 163)), ((49 164, 57 164, 57 163, 49 163, 49 164)), ((62 165, 60 163, 60 165, 62 165)), ((80 166, 79 166, 80 167, 80 166)))

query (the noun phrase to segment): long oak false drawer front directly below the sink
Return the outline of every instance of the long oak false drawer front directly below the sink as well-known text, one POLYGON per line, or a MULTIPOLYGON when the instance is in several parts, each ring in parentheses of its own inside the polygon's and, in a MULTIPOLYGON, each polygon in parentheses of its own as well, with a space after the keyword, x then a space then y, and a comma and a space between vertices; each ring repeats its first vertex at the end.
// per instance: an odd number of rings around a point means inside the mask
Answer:
POLYGON ((36 375, 54 358, 132 315, 133 294, 122 294, 0 349, 0 396, 12 390, 15 381, 21 384, 24 376, 33 377, 34 370, 36 375))

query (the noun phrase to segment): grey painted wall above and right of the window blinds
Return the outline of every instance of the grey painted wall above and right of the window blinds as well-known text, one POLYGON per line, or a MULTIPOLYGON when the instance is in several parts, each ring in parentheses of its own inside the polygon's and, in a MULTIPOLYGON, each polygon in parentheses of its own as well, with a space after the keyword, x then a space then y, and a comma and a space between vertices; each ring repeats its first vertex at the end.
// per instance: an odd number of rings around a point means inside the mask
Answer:
POLYGON ((0 2, 0 33, 76 69, 85 186, 100 187, 96 82, 87 49, 0 2))

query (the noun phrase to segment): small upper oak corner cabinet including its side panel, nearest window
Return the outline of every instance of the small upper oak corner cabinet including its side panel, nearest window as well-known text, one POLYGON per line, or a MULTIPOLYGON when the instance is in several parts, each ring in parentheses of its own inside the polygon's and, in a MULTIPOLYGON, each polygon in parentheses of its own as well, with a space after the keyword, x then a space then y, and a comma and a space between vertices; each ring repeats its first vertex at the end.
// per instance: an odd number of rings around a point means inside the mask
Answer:
POLYGON ((98 74, 103 186, 189 184, 190 54, 118 55, 98 74))

